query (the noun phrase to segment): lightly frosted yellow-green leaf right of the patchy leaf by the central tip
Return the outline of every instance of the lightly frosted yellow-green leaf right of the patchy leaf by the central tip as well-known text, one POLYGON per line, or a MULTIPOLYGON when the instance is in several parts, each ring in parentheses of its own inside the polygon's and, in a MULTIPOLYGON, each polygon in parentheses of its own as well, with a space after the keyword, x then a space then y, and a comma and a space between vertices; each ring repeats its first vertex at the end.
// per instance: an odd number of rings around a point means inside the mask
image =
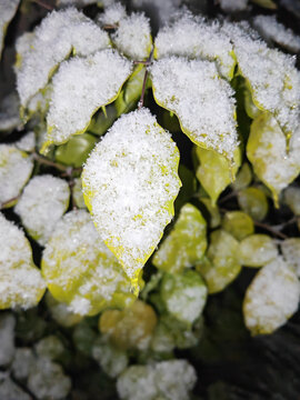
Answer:
POLYGON ((238 246, 239 242, 224 230, 220 229, 211 233, 207 257, 197 266, 209 293, 223 290, 240 273, 238 246))

